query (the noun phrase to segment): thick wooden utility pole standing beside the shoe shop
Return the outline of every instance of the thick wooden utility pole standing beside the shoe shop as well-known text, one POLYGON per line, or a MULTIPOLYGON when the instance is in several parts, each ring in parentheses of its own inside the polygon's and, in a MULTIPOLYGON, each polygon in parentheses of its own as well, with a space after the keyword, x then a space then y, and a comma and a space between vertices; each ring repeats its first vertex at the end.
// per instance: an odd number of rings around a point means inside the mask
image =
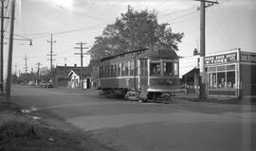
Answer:
POLYGON ((205 54, 206 54, 206 8, 219 4, 217 1, 195 0, 200 1, 200 78, 199 78, 199 99, 207 98, 206 90, 206 73, 205 73, 205 54), (206 6, 206 3, 208 4, 206 6))

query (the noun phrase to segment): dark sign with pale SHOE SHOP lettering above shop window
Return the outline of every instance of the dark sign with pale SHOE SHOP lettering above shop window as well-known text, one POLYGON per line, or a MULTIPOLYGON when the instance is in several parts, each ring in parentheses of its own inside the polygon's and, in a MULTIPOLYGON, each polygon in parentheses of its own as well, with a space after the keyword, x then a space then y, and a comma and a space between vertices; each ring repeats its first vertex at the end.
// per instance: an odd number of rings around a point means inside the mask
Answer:
POLYGON ((206 57, 205 64, 219 64, 219 63, 233 62, 236 60, 237 60, 236 53, 230 53, 230 54, 206 57))

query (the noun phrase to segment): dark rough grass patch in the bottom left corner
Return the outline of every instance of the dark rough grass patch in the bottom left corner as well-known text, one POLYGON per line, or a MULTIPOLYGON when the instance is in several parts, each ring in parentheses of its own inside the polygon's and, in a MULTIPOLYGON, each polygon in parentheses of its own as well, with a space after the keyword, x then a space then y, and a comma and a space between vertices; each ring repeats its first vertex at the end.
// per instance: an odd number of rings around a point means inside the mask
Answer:
POLYGON ((82 141, 63 130, 9 121, 0 126, 0 151, 82 151, 82 141))

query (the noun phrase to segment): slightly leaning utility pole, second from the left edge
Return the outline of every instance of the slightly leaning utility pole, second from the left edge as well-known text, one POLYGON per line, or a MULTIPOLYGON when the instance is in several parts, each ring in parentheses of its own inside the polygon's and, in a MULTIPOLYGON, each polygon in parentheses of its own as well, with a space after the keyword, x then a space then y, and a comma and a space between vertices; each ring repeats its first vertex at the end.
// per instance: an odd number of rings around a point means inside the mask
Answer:
POLYGON ((16 0, 11 0, 10 6, 10 27, 9 27, 9 56, 8 56, 8 76, 7 76, 7 88, 6 96, 10 97, 10 82, 11 82, 11 66, 12 66, 12 52, 13 52, 13 34, 14 34, 14 17, 15 17, 15 3, 16 0))

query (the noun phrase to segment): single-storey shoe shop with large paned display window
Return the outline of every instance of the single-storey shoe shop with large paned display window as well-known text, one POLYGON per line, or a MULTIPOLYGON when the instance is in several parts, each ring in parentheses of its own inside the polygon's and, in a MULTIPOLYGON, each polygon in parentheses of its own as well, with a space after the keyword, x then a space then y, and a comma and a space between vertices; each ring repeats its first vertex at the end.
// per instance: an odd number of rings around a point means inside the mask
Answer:
POLYGON ((256 96, 256 53, 237 48, 210 54, 205 66, 209 96, 256 96))

